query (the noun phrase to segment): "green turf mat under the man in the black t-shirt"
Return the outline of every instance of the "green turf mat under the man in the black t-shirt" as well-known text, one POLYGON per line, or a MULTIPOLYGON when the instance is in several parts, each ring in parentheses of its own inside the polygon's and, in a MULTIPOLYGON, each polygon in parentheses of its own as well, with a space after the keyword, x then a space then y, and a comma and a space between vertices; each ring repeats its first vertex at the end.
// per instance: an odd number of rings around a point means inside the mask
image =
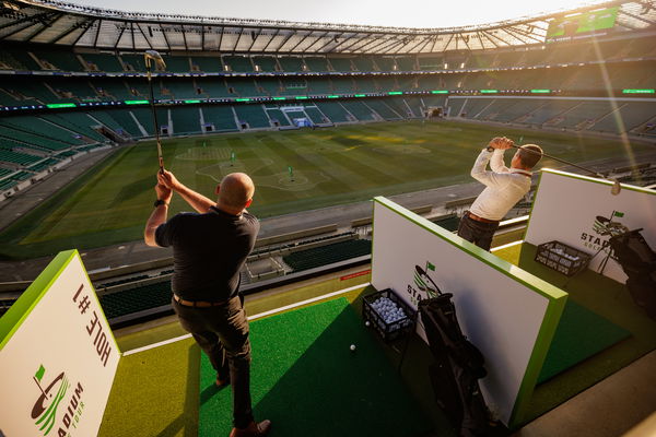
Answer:
MULTIPOLYGON (((251 397, 271 436, 422 436, 426 417, 344 298, 250 323, 251 397), (351 352, 349 346, 356 345, 351 352)), ((200 366, 199 436, 227 436, 232 393, 200 366)))

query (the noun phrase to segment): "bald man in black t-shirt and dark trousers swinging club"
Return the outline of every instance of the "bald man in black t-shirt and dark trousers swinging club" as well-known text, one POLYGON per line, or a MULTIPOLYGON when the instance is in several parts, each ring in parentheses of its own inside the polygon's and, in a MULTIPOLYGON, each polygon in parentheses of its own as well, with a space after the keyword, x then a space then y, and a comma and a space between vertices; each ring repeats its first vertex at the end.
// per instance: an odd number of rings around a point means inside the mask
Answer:
POLYGON ((173 247, 173 308, 216 370, 216 386, 232 385, 231 437, 265 436, 271 422, 256 423, 250 402, 250 342, 239 271, 255 246, 259 222, 246 211, 255 186, 233 173, 216 186, 218 201, 191 190, 171 172, 157 174, 155 210, 145 225, 145 244, 173 247), (166 221, 178 193, 196 213, 166 221))

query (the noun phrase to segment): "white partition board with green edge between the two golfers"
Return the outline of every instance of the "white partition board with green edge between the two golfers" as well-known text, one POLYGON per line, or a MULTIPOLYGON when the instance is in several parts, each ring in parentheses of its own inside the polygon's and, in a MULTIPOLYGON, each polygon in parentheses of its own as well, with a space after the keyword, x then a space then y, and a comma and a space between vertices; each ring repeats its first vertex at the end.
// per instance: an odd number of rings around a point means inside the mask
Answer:
POLYGON ((385 198, 374 199, 372 284, 413 308, 435 286, 453 294, 464 334, 485 357, 488 406, 506 425, 519 420, 565 292, 385 198))

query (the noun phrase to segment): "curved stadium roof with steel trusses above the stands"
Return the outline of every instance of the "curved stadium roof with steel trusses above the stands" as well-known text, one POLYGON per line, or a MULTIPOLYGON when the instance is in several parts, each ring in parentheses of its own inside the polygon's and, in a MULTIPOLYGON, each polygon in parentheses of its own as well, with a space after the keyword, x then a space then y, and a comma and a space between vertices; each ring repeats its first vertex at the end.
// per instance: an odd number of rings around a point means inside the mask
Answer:
POLYGON ((566 12, 450 28, 154 14, 52 0, 0 0, 0 40, 121 51, 440 54, 543 44, 550 26, 595 11, 612 15, 613 32, 656 28, 656 0, 597 1, 566 12))

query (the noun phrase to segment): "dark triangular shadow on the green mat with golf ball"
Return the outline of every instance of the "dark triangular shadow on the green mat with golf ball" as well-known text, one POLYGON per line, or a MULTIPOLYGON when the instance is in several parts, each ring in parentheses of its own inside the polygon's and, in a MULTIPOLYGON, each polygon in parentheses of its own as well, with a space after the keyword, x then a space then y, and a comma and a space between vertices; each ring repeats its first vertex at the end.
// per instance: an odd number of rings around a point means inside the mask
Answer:
MULTIPOLYGON (((289 328, 293 334, 303 326, 289 328)), ((273 422, 272 436, 414 437, 431 428, 349 306, 277 379, 255 405, 255 414, 273 422)))

